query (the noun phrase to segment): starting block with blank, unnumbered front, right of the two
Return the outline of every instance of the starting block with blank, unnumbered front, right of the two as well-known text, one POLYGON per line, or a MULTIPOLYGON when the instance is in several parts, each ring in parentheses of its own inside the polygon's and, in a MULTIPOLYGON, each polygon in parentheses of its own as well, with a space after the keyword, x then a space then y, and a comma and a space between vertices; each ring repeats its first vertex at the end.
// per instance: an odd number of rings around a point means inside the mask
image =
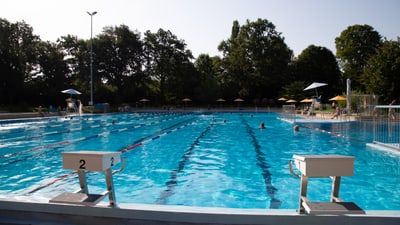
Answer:
POLYGON ((301 178, 300 183, 300 214, 365 214, 364 210, 353 202, 343 202, 339 198, 341 176, 354 175, 354 157, 342 155, 294 155, 294 164, 301 175, 292 170, 292 160, 289 161, 290 172, 301 178), (331 177, 332 193, 330 202, 310 202, 307 198, 309 177, 331 177))

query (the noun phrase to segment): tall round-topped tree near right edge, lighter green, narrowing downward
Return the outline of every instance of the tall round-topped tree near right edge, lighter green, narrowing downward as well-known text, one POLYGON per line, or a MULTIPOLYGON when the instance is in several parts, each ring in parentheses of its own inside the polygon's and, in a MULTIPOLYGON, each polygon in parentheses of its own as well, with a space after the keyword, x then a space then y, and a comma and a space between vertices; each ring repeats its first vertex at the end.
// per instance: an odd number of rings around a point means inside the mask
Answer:
POLYGON ((364 91, 361 74, 368 60, 381 45, 381 36, 369 25, 353 25, 335 39, 336 56, 345 79, 352 80, 352 88, 364 91))

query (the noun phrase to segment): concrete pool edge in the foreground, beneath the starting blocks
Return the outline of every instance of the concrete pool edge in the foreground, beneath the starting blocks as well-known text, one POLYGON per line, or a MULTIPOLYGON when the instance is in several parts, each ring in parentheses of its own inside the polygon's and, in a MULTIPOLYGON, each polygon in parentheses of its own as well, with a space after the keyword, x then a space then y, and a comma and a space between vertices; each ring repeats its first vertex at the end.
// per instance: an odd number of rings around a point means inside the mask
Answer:
POLYGON ((146 204, 80 206, 0 200, 0 224, 400 224, 399 211, 366 211, 364 215, 299 215, 296 210, 231 209, 146 204))

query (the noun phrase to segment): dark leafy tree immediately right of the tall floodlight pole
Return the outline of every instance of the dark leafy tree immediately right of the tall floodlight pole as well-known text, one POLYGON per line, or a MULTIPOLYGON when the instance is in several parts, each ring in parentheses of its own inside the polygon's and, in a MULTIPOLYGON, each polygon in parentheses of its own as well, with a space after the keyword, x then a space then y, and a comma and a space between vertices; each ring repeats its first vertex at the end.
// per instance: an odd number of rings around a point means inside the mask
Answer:
POLYGON ((121 103, 144 94, 144 52, 138 32, 126 25, 105 27, 93 46, 99 101, 121 103))

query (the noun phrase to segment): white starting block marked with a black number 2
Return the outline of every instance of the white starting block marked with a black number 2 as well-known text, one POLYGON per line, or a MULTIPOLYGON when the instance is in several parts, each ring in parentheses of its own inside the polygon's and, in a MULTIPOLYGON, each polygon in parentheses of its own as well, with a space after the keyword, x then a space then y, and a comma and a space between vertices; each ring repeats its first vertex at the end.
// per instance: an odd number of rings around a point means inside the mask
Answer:
POLYGON ((93 206, 99 203, 108 195, 110 206, 115 206, 116 198, 112 174, 121 172, 125 167, 125 160, 120 170, 112 171, 111 168, 120 163, 120 152, 101 152, 101 151, 78 151, 63 152, 63 168, 77 170, 81 189, 74 193, 62 193, 51 199, 53 203, 67 203, 93 206), (107 183, 107 191, 102 194, 89 194, 86 172, 104 172, 107 183))

